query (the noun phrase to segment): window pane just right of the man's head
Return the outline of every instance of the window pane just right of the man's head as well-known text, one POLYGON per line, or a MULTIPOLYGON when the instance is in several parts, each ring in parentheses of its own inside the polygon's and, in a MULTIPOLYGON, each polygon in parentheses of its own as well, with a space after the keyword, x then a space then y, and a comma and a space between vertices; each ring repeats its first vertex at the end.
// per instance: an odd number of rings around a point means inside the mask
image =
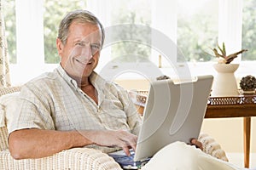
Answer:
MULTIPOLYGON (((151 4, 148 0, 113 0, 113 10, 111 11, 111 25, 136 24, 143 26, 151 25, 151 4), (147 8, 145 8, 147 7, 147 8)), ((130 32, 120 30, 114 34, 116 37, 133 40, 150 37, 151 32, 143 29, 133 29, 130 32), (132 33, 131 33, 132 32, 132 33)), ((148 59, 151 55, 151 48, 147 44, 140 42, 117 42, 111 46, 112 58, 118 58, 119 61, 135 62, 148 59), (132 57, 134 56, 134 57, 132 57)))

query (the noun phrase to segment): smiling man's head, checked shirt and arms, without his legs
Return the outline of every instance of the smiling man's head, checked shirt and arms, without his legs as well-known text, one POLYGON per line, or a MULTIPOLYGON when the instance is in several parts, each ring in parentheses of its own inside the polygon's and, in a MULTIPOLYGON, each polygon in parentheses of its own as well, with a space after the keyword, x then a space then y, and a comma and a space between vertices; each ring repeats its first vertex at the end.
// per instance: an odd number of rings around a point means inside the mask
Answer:
MULTIPOLYGON (((141 117, 123 88, 96 74, 104 31, 88 11, 61 20, 56 39, 61 63, 27 82, 9 126, 15 159, 53 155, 73 147, 104 152, 136 148, 141 117)), ((194 139, 193 144, 201 146, 194 139)))

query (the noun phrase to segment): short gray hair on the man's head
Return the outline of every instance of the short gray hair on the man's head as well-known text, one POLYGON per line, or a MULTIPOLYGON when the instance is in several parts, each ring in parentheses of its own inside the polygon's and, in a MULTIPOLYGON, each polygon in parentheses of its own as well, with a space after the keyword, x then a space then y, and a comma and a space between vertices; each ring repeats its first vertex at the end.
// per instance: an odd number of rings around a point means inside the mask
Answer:
POLYGON ((59 31, 58 31, 58 38, 60 38, 61 42, 63 44, 66 44, 67 42, 67 36, 68 36, 68 31, 69 31, 69 26, 73 23, 73 21, 77 21, 80 23, 90 23, 93 25, 98 25, 100 26, 100 29, 102 31, 102 45, 105 39, 105 31, 102 26, 102 23, 100 20, 96 18, 96 16, 92 13, 90 13, 87 10, 75 10, 70 13, 68 13, 62 20, 61 24, 59 26, 59 31))

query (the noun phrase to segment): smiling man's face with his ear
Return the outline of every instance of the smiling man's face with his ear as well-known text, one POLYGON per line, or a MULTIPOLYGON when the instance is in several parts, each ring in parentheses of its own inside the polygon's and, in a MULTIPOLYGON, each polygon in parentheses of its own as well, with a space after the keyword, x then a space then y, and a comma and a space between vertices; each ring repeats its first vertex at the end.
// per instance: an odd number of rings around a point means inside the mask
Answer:
POLYGON ((98 64, 101 42, 99 26, 90 23, 73 22, 69 27, 65 45, 57 38, 61 66, 70 77, 83 81, 90 76, 98 64))

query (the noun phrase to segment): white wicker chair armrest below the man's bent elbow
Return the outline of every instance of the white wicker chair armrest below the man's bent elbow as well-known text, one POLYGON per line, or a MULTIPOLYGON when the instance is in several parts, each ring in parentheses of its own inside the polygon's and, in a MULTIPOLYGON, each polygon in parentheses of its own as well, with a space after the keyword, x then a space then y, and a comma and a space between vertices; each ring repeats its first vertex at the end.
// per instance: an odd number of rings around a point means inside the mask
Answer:
POLYGON ((81 170, 121 170, 112 157, 100 150, 73 148, 63 150, 53 156, 38 159, 15 160, 9 150, 0 152, 0 167, 3 169, 81 169, 81 170))

